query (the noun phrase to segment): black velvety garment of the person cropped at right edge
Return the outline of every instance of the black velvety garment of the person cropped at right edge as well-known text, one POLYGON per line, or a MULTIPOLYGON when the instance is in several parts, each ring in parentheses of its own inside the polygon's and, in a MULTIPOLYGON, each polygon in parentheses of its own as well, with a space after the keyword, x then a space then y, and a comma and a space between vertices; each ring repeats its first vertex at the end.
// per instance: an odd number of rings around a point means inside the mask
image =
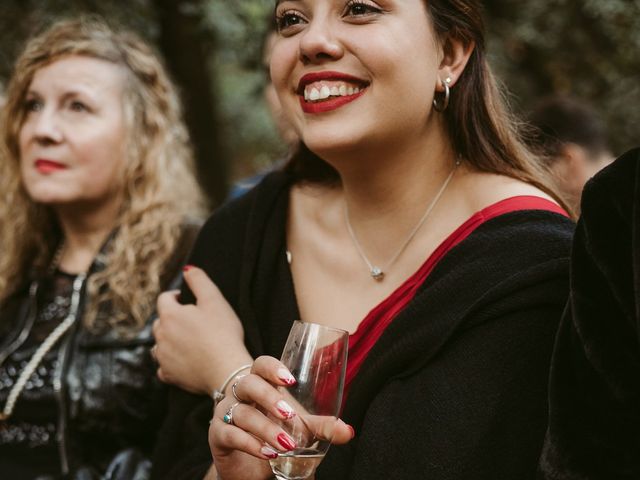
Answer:
POLYGON ((640 478, 640 149, 585 187, 555 347, 549 480, 640 478))

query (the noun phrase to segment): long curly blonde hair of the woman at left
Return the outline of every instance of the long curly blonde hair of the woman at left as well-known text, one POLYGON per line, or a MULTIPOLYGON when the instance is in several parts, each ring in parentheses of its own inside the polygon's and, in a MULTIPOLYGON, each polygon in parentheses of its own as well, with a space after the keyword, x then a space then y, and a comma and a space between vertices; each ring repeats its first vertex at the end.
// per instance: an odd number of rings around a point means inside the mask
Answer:
POLYGON ((46 268, 62 240, 53 210, 32 201, 21 182, 18 136, 35 72, 69 55, 111 62, 127 72, 124 200, 106 268, 89 277, 83 322, 92 329, 136 330, 153 311, 185 220, 204 214, 205 204, 178 95, 163 65, 136 35, 94 16, 59 21, 31 39, 7 85, 0 117, 0 301, 30 272, 46 268), (109 306, 108 316, 98 315, 103 305, 109 306))

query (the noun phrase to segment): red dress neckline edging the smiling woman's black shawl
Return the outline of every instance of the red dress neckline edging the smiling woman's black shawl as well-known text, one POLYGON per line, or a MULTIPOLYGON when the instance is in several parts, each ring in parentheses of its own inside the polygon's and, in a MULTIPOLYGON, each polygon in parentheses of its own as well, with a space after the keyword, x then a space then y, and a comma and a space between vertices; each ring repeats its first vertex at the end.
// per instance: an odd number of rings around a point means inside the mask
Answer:
POLYGON ((371 310, 364 320, 360 322, 358 329, 349 336, 349 359, 347 361, 344 388, 345 397, 349 390, 349 385, 358 374, 358 370, 360 370, 360 366, 371 348, 373 348, 395 316, 411 301, 438 261, 484 222, 499 215, 518 210, 547 210, 566 217, 569 216, 564 209, 549 200, 525 195, 501 200, 472 215, 433 251, 416 273, 411 275, 391 295, 371 310))

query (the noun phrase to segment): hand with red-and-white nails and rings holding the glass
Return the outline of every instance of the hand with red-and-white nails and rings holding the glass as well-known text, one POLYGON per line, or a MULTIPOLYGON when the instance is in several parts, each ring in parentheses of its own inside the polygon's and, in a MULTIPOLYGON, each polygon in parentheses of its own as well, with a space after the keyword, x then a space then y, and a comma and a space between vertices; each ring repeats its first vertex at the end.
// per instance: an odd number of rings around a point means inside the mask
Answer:
MULTIPOLYGON (((282 363, 273 357, 260 357, 251 373, 236 381, 237 397, 227 395, 217 405, 209 427, 209 447, 220 477, 224 480, 271 478, 268 460, 296 448, 294 440, 267 416, 291 420, 304 413, 296 411, 298 406, 294 401, 276 388, 293 384, 295 379, 282 363), (232 419, 225 422, 223 418, 230 409, 232 419)), ((353 438, 353 429, 333 417, 314 417, 309 424, 317 437, 331 439, 334 444, 347 443, 353 438)))

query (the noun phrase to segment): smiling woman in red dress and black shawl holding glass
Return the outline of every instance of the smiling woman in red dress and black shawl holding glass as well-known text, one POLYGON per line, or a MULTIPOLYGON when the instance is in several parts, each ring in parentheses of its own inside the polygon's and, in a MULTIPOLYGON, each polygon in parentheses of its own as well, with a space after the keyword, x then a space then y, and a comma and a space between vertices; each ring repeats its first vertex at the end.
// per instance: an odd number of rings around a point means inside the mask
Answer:
POLYGON ((301 146, 205 224, 195 305, 159 299, 163 378, 217 403, 211 419, 174 392, 158 478, 319 462, 271 420, 303 413, 276 360, 296 319, 350 332, 316 480, 534 477, 572 222, 501 100, 480 11, 276 2, 271 78, 301 146))

